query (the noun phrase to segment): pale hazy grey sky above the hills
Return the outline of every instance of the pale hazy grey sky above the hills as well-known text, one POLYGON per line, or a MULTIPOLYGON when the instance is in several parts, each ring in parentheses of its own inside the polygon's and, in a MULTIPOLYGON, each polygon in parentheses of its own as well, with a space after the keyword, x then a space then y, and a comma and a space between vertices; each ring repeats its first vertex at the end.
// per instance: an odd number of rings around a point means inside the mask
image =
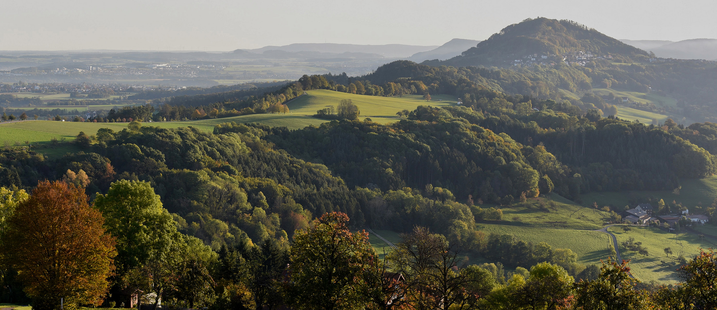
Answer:
POLYGON ((717 1, 0 1, 0 50, 229 51, 291 43, 440 45, 528 17, 617 39, 717 38, 717 1))

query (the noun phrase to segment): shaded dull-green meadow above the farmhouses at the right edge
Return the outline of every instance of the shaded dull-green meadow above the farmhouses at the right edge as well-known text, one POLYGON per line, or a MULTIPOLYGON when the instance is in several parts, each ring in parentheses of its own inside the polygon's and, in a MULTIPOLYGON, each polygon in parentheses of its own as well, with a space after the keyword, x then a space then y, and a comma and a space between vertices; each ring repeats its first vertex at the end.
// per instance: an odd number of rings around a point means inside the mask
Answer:
POLYGON ((589 206, 596 202, 600 206, 612 205, 619 208, 625 205, 634 206, 637 203, 644 203, 647 198, 663 199, 666 203, 672 203, 674 200, 687 208, 695 205, 711 205, 713 200, 717 199, 717 176, 702 179, 683 179, 680 180, 680 184, 682 189, 679 195, 675 195, 671 190, 630 190, 624 192, 587 193, 581 195, 581 199, 584 206, 589 206))

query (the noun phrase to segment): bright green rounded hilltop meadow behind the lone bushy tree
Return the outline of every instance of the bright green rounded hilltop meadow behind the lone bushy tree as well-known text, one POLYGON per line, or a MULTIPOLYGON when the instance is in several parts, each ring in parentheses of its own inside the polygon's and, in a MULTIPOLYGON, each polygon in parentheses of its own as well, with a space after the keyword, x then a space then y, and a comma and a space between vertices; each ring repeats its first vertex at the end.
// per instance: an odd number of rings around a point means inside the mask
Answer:
POLYGON ((315 89, 288 103, 289 110, 294 115, 314 115, 317 110, 338 103, 344 99, 350 99, 361 110, 360 117, 384 117, 399 120, 396 112, 401 110, 413 111, 419 105, 446 106, 455 105, 456 98, 449 95, 432 95, 430 102, 423 100, 423 96, 405 95, 403 97, 378 97, 367 95, 348 94, 346 92, 334 92, 326 89, 315 89), (438 101, 441 100, 441 101, 438 101))

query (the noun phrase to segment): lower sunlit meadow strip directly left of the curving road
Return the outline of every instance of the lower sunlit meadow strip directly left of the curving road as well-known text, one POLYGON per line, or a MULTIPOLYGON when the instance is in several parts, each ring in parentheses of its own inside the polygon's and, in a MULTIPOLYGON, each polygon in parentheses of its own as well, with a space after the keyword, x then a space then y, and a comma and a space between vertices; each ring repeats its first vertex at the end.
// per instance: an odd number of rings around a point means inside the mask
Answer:
POLYGON ((599 263, 610 252, 610 238, 599 231, 581 231, 577 229, 534 228, 506 225, 478 224, 478 229, 486 234, 509 234, 523 241, 548 243, 553 248, 569 248, 584 264, 599 263))

